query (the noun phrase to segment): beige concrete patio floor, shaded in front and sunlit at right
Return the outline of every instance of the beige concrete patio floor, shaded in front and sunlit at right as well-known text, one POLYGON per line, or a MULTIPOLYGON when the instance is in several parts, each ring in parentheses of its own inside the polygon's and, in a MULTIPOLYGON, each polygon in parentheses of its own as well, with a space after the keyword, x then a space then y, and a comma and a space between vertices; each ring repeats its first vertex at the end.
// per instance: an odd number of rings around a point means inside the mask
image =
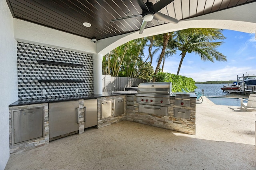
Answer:
POLYGON ((11 155, 5 170, 256 170, 255 114, 204 97, 196 135, 122 121, 11 155))

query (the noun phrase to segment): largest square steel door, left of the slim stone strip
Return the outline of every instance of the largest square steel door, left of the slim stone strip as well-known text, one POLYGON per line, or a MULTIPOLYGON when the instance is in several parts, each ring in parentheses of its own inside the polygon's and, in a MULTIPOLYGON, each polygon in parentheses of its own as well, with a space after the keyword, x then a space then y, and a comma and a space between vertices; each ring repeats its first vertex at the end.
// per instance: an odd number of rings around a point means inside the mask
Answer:
POLYGON ((49 138, 79 130, 78 101, 49 104, 49 138))

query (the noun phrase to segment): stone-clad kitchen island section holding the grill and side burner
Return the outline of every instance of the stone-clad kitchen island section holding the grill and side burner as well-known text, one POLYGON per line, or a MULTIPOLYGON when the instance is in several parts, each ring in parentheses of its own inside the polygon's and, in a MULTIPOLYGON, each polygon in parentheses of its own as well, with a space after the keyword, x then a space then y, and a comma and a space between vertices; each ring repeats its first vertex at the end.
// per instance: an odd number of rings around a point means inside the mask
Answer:
POLYGON ((126 120, 195 135, 196 95, 171 89, 171 83, 141 83, 126 120))

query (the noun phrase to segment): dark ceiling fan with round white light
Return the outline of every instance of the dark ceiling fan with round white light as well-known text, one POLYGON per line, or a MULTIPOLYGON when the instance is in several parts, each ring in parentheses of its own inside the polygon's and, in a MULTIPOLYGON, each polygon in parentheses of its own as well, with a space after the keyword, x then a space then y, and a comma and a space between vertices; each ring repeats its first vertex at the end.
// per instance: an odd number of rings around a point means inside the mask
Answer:
POLYGON ((116 19, 110 20, 110 21, 114 22, 114 21, 123 20, 126 18, 142 16, 143 21, 142 21, 142 24, 140 27, 140 34, 143 33, 143 30, 145 29, 147 22, 151 21, 152 19, 177 24, 179 22, 179 20, 158 12, 158 11, 162 10, 162 8, 164 8, 165 6, 170 4, 172 1, 174 1, 174 0, 160 0, 160 1, 156 2, 155 4, 153 4, 152 2, 149 2, 148 0, 146 3, 143 0, 137 0, 138 4, 140 5, 140 8, 142 9, 142 14, 134 15, 134 16, 127 16, 127 17, 122 17, 122 18, 116 18, 116 19))

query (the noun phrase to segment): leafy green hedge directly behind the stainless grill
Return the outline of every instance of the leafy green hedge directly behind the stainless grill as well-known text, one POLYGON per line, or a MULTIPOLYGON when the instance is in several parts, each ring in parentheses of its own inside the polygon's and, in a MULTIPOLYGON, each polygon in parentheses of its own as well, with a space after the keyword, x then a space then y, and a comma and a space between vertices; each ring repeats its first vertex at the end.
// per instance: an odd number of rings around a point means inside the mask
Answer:
POLYGON ((172 92, 182 92, 182 88, 188 88, 188 90, 194 91, 197 88, 193 78, 168 72, 158 72, 156 74, 156 82, 172 82, 172 92))

